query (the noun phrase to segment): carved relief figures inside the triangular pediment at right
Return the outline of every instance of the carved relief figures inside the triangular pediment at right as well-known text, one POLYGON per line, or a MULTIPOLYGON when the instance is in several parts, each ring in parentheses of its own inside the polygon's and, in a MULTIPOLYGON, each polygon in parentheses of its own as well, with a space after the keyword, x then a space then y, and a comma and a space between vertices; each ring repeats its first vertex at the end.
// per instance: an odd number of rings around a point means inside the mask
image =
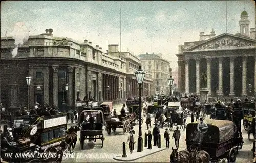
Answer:
POLYGON ((206 50, 206 49, 229 49, 229 48, 239 48, 239 47, 253 47, 256 46, 255 42, 246 41, 243 39, 233 38, 233 37, 221 37, 211 42, 200 45, 199 47, 193 49, 206 50))

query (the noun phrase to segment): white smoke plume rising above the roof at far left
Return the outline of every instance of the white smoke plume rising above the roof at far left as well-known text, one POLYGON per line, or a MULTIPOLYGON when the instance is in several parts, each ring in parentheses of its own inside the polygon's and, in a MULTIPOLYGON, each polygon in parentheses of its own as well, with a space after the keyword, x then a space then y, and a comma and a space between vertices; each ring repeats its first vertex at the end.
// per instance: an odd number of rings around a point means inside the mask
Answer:
POLYGON ((16 57, 18 48, 29 39, 29 29, 24 22, 17 22, 11 32, 12 38, 15 40, 15 48, 12 51, 12 57, 16 57))

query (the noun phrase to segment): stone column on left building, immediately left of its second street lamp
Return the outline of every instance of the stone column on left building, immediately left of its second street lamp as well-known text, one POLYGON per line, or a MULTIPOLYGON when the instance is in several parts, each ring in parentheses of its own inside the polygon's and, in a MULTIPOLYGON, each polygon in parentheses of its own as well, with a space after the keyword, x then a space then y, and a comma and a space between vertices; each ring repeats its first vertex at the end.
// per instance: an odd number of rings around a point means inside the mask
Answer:
POLYGON ((53 106, 58 106, 58 72, 59 66, 53 65, 53 106))

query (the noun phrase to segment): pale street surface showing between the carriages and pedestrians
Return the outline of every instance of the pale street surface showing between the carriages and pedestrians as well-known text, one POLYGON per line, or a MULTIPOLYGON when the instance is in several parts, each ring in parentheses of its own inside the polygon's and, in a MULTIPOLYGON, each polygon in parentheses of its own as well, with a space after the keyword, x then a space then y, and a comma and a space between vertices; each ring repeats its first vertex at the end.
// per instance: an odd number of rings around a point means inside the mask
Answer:
MULTIPOLYGON (((122 105, 119 105, 118 107, 115 107, 117 112, 122 108, 122 105)), ((154 118, 152 117, 152 122, 154 122, 154 118)), ((191 122, 190 117, 187 117, 187 123, 191 122)), ((153 130, 153 123, 152 123, 152 128, 151 131, 153 130)), ((138 135, 138 129, 139 125, 134 126, 135 130, 135 141, 137 141, 137 135, 138 135)), ((161 133, 161 147, 165 148, 165 140, 163 138, 165 128, 163 129, 160 128, 160 133, 161 133)), ((176 129, 176 126, 173 127, 173 130, 170 131, 170 134, 172 136, 173 131, 176 129)), ((181 131, 181 139, 180 139, 180 145, 179 145, 179 150, 184 150, 186 148, 186 142, 185 142, 185 137, 186 137, 186 132, 183 130, 181 131)), ((146 130, 146 124, 145 121, 142 125, 142 133, 143 133, 143 141, 144 141, 144 133, 147 132, 146 130)), ((252 161, 252 139, 249 141, 248 140, 248 135, 244 128, 242 127, 242 133, 243 133, 243 148, 239 150, 239 155, 237 157, 236 162, 249 162, 252 161)), ((81 150, 80 142, 79 142, 79 132, 78 132, 78 141, 76 143, 75 149, 74 149, 74 155, 72 158, 66 159, 63 162, 118 162, 113 159, 113 156, 121 154, 122 153, 122 143, 127 141, 127 136, 128 134, 126 133, 123 135, 122 129, 117 128, 116 132, 111 132, 111 135, 106 133, 104 130, 104 146, 103 148, 101 147, 101 141, 97 140, 96 144, 93 142, 86 142, 85 143, 85 148, 84 150, 81 150), (99 143, 99 144, 97 144, 99 143)), ((252 135, 251 135, 252 138, 252 135)), ((144 142, 143 142, 144 143, 144 142)), ((153 141, 152 141, 153 143, 153 141)), ((150 156, 135 160, 133 162, 169 162, 169 156, 170 153, 172 152, 172 147, 175 148, 174 144, 174 139, 170 140, 170 148, 167 150, 163 150, 161 152, 152 154, 150 156)), ((148 150, 145 149, 144 150, 148 150)), ((129 152, 129 149, 126 144, 126 153, 129 152)), ((137 152, 137 143, 135 144, 135 150, 134 153, 137 152)))

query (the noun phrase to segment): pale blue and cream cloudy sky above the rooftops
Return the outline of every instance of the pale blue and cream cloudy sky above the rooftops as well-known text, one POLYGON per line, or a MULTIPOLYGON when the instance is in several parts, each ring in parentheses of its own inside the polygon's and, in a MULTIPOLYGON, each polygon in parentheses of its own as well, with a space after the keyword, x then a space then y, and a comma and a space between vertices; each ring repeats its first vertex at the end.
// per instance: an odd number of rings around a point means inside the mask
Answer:
POLYGON ((199 33, 239 32, 240 14, 248 12, 255 28, 254 1, 1 1, 1 37, 11 36, 17 22, 29 35, 45 33, 79 42, 87 39, 106 52, 108 44, 134 55, 162 53, 178 67, 178 45, 198 41, 199 33), (120 21, 121 9, 121 21, 120 21))

